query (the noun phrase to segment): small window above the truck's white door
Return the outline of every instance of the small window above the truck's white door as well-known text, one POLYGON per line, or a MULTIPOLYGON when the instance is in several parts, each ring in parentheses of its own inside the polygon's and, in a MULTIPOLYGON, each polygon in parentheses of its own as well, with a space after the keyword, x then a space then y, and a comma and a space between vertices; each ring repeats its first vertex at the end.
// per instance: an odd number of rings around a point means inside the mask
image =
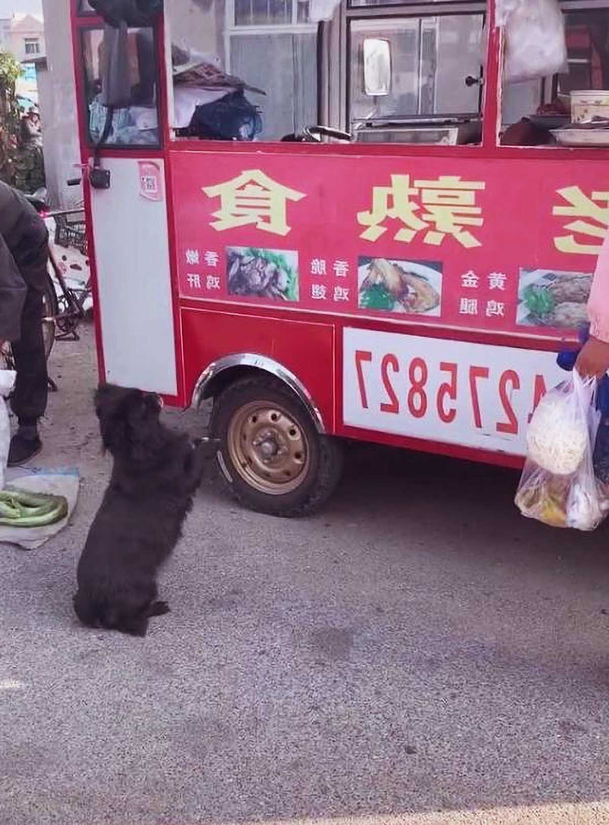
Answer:
POLYGON ((153 29, 85 29, 82 46, 90 142, 158 146, 153 29))

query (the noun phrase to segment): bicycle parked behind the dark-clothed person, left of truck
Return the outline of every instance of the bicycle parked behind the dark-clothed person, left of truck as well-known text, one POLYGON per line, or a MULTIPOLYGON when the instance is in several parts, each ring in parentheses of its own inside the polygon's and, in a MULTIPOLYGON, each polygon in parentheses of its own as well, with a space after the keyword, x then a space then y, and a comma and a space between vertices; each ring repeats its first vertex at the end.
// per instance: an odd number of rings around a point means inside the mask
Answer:
MULTIPOLYGON (((75 186, 80 179, 68 181, 75 186)), ((82 209, 49 210, 44 200, 26 195, 43 219, 54 219, 54 237, 49 241, 49 271, 42 293, 42 334, 45 342, 45 357, 48 361, 55 341, 78 341, 78 325, 87 316, 87 304, 91 299, 91 275, 82 287, 69 286, 66 281, 67 256, 58 257, 58 247, 75 247, 87 257, 87 235, 85 233, 82 209), (78 220, 70 220, 78 216, 78 220)), ((88 261, 85 261, 88 265, 88 261)), ((10 344, 5 343, 0 351, 0 368, 13 370, 15 363, 10 344)), ((57 389, 49 380, 51 389, 57 389)))

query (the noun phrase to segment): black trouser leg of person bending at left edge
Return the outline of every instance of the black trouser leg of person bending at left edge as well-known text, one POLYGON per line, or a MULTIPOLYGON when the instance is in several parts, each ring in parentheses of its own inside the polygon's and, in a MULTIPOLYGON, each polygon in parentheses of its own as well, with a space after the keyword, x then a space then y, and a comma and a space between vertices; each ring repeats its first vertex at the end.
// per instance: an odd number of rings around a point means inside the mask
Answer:
POLYGON ((17 381, 11 396, 12 412, 24 427, 45 414, 48 397, 45 342, 42 337, 42 293, 29 287, 21 314, 21 337, 11 344, 17 381))

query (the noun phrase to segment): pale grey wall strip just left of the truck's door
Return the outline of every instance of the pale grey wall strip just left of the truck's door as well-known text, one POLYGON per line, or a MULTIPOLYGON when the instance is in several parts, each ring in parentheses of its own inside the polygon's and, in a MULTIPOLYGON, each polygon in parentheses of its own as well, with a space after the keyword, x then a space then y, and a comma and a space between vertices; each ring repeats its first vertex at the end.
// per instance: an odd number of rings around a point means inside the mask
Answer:
POLYGON ((42 6, 48 68, 38 70, 38 93, 46 181, 51 204, 69 207, 83 197, 80 186, 66 185, 78 177, 74 163, 80 163, 69 0, 42 0, 42 6))

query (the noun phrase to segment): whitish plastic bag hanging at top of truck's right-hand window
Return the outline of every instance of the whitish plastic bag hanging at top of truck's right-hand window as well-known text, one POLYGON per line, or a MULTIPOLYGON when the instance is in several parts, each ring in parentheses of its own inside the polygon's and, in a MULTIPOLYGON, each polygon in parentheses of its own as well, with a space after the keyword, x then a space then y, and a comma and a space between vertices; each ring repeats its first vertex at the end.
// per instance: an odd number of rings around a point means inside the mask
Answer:
POLYGON ((564 19, 557 0, 500 0, 497 25, 505 26, 505 82, 566 71, 564 19))

